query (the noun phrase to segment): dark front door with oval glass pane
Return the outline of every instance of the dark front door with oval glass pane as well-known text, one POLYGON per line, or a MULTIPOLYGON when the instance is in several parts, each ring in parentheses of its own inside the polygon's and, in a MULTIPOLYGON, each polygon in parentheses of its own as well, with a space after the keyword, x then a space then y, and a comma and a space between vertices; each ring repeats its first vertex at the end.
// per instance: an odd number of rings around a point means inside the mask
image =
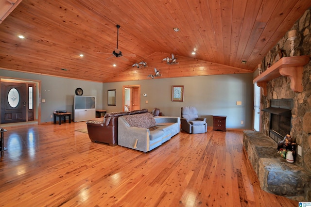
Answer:
POLYGON ((26 83, 1 82, 1 124, 25 122, 26 83))

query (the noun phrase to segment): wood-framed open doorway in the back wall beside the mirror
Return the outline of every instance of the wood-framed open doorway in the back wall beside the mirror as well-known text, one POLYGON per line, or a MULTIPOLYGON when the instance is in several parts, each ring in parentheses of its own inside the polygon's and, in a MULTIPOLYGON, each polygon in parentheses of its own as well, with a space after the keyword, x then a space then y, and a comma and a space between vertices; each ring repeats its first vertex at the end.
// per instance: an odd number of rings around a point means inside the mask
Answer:
POLYGON ((124 111, 140 109, 140 85, 123 85, 122 104, 124 111))

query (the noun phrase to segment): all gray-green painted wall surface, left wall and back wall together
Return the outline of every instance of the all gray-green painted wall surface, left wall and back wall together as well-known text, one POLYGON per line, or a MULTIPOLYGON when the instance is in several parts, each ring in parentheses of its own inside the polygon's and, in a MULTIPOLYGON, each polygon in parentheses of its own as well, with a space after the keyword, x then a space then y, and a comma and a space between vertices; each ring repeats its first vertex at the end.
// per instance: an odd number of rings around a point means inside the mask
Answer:
POLYGON ((0 69, 1 77, 41 80, 41 123, 52 122, 54 110, 72 112, 74 91, 81 87, 85 96, 96 96, 96 108, 123 111, 122 86, 141 86, 141 108, 152 111, 157 107, 163 115, 180 116, 182 106, 195 106, 199 116, 207 117, 212 126, 212 115, 226 115, 227 128, 253 128, 253 74, 213 75, 169 79, 150 79, 113 83, 98 83, 46 75, 0 69), (172 101, 172 86, 184 86, 184 102, 172 101), (107 90, 117 90, 117 105, 107 105, 107 90), (147 94, 147 96, 143 96, 147 94), (148 100, 148 104, 145 101, 148 100), (242 105, 236 105, 242 101, 242 105), (244 124, 241 125, 241 121, 244 124))

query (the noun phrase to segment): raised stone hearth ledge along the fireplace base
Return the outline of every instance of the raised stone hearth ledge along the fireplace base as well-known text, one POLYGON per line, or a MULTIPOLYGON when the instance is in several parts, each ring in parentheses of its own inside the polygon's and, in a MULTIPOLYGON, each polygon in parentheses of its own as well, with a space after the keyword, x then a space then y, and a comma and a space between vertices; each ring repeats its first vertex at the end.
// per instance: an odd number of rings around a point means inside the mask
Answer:
POLYGON ((260 188, 297 201, 310 201, 310 174, 279 156, 277 144, 264 133, 253 130, 243 133, 245 153, 258 175, 260 188))

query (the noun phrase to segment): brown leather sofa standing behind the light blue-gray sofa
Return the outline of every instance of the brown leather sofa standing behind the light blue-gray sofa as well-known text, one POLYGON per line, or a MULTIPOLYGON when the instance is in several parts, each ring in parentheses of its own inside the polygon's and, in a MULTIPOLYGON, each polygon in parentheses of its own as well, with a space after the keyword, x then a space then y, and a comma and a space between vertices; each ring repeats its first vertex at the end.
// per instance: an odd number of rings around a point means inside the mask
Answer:
POLYGON ((147 109, 106 113, 103 121, 87 121, 88 137, 93 143, 118 144, 118 118, 123 115, 148 112, 147 109))

